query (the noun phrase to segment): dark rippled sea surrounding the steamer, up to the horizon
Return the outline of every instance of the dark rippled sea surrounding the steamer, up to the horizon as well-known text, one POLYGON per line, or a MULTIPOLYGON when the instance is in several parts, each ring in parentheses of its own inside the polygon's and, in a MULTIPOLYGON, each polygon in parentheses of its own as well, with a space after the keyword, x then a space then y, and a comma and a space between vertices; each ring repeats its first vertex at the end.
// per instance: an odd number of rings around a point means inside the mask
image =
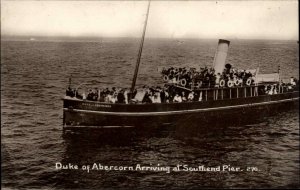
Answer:
MULTIPOLYGON (((299 110, 217 132, 62 133, 72 85, 129 87, 139 39, 1 42, 2 187, 53 189, 299 188, 299 110), (56 169, 56 163, 79 169, 56 169), (134 170, 83 170, 98 166, 134 170), (230 165, 243 171, 147 171, 140 167, 230 165), (253 170, 253 171, 247 171, 253 170)), ((159 66, 211 66, 217 40, 146 39, 137 85, 162 84, 159 66)), ((295 41, 232 40, 227 63, 299 78, 295 41)), ((142 124, 141 124, 142 125, 142 124)), ((196 127, 201 127, 201 121, 196 127)), ((225 166, 226 167, 226 166, 225 166)))

